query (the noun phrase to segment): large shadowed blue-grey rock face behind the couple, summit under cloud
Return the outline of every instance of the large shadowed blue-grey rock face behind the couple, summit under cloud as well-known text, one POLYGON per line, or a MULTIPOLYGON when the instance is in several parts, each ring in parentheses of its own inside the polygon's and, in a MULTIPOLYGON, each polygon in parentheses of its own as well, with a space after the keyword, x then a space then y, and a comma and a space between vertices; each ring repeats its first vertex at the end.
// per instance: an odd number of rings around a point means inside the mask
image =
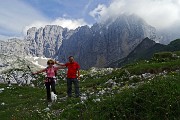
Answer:
POLYGON ((137 16, 121 16, 105 23, 83 26, 59 49, 59 60, 72 55, 82 68, 104 67, 126 57, 145 37, 155 39, 155 28, 137 16))

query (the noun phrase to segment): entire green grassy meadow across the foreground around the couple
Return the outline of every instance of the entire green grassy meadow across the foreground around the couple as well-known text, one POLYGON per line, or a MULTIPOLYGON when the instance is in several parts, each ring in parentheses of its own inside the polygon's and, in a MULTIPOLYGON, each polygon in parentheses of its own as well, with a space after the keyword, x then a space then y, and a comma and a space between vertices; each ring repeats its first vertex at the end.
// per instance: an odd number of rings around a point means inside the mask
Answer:
MULTIPOLYGON (((2 120, 178 120, 180 119, 180 60, 152 59, 126 65, 105 73, 82 71, 80 91, 88 95, 84 102, 80 98, 65 98, 66 81, 59 73, 56 85, 58 100, 46 111, 46 90, 43 76, 29 86, 7 87, 0 93, 0 118, 2 120), (163 71, 167 74, 159 75, 163 71), (151 78, 142 78, 143 73, 152 73, 151 78), (130 78, 134 76, 133 78, 130 78), (118 85, 107 84, 112 80, 118 85), (99 95, 100 91, 106 91, 99 95), (100 101, 96 101, 100 99, 100 101), (5 105, 2 105, 5 103, 5 105)), ((74 91, 74 89, 73 89, 74 91)), ((74 94, 74 93, 73 93, 74 94)))

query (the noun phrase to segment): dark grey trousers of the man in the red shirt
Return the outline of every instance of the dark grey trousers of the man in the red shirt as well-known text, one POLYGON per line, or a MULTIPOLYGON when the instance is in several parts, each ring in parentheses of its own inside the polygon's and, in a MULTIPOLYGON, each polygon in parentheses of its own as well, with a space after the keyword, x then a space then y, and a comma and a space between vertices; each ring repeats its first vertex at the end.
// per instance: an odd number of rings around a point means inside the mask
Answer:
POLYGON ((77 78, 67 78, 67 94, 72 96, 72 83, 74 84, 76 97, 79 97, 79 81, 77 78))

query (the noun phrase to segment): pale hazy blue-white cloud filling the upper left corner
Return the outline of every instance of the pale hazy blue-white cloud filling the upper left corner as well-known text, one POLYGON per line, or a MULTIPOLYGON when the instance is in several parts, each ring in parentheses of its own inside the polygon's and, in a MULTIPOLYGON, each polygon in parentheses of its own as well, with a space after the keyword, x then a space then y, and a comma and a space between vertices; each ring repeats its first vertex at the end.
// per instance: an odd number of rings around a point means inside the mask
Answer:
POLYGON ((19 0, 1 1, 0 29, 1 31, 4 30, 4 34, 21 34, 23 27, 36 20, 47 20, 47 18, 19 0))

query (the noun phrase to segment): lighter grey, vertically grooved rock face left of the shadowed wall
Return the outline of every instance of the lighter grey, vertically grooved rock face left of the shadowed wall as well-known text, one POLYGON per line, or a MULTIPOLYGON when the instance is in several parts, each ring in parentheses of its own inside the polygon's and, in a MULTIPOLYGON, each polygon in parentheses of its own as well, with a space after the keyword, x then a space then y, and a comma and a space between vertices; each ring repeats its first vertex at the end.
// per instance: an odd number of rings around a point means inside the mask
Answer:
POLYGON ((56 54, 65 37, 64 29, 57 25, 47 25, 45 28, 31 28, 27 31, 25 47, 27 54, 33 56, 52 57, 56 54))

